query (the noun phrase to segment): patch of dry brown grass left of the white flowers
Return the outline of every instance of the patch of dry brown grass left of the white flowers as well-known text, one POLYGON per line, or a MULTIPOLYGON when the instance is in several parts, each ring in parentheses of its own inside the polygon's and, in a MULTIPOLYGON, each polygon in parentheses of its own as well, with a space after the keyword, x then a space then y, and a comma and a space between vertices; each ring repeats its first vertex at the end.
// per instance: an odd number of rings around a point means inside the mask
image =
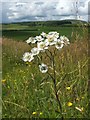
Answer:
POLYGON ((11 59, 21 59, 24 52, 29 51, 30 46, 25 42, 17 42, 11 39, 4 38, 2 40, 2 52, 11 59))

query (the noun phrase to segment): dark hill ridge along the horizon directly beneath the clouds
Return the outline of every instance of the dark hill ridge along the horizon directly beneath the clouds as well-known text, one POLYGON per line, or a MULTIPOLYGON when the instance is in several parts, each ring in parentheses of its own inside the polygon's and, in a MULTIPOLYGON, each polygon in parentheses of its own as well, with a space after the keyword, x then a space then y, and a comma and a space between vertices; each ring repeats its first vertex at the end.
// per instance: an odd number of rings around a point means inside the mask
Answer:
MULTIPOLYGON (((74 20, 74 19, 68 19, 68 20, 53 20, 53 21, 28 21, 28 22, 17 22, 17 23, 9 23, 9 24, 20 24, 20 25, 28 25, 28 26, 77 26, 80 24, 87 24, 86 21, 82 20, 74 20)), ((4 24, 7 25, 7 24, 4 24)))

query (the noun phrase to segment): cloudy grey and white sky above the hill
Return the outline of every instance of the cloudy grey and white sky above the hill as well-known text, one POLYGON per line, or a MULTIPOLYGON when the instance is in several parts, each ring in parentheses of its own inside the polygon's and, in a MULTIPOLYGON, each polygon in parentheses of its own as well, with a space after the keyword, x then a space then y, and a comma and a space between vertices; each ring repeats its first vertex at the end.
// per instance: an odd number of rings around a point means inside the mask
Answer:
POLYGON ((90 0, 0 0, 0 22, 78 19, 88 21, 90 0), (77 4, 75 4, 77 2, 77 4))

